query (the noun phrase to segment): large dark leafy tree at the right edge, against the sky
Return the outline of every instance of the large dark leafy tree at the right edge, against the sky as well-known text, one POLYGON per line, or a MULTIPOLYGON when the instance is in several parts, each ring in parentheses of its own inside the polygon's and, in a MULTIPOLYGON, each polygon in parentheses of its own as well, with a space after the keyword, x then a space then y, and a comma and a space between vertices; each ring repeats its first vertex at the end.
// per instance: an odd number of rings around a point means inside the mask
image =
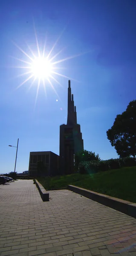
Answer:
POLYGON ((107 131, 107 138, 120 157, 136 157, 136 100, 116 116, 113 126, 107 131))

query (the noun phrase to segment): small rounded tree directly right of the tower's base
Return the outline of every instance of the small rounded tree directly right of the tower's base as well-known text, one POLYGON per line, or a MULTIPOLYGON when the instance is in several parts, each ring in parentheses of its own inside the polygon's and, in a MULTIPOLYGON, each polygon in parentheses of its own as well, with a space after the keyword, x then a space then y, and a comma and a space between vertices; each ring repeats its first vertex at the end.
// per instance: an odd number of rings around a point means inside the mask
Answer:
POLYGON ((75 154, 75 169, 78 170, 79 163, 83 161, 88 162, 93 160, 99 161, 101 159, 98 154, 95 154, 95 152, 82 150, 75 154))

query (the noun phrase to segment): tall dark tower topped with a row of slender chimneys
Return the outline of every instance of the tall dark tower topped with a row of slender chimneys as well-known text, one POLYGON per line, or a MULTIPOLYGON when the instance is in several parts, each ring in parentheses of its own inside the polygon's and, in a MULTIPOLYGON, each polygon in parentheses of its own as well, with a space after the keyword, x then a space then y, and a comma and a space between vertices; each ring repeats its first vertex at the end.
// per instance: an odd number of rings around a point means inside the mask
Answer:
POLYGON ((77 124, 74 97, 68 85, 67 125, 60 125, 60 173, 71 174, 74 169, 74 155, 84 149, 80 125, 77 124))

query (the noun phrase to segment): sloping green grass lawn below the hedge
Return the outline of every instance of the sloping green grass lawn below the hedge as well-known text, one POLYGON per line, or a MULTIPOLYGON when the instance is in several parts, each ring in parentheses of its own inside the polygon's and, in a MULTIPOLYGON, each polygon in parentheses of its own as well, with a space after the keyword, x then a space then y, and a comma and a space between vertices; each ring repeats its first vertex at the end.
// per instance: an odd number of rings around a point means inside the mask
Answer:
POLYGON ((67 188, 67 185, 75 185, 136 203, 136 166, 88 175, 76 173, 41 177, 37 180, 45 189, 61 189, 67 188))

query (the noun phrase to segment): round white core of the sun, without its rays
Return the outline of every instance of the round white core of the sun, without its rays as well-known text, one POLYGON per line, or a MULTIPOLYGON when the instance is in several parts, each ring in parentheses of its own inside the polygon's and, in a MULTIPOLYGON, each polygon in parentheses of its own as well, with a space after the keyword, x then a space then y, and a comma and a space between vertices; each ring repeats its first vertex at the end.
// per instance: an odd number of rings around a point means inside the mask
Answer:
POLYGON ((48 79, 53 72, 53 67, 48 58, 38 57, 32 61, 31 72, 35 78, 48 79))

